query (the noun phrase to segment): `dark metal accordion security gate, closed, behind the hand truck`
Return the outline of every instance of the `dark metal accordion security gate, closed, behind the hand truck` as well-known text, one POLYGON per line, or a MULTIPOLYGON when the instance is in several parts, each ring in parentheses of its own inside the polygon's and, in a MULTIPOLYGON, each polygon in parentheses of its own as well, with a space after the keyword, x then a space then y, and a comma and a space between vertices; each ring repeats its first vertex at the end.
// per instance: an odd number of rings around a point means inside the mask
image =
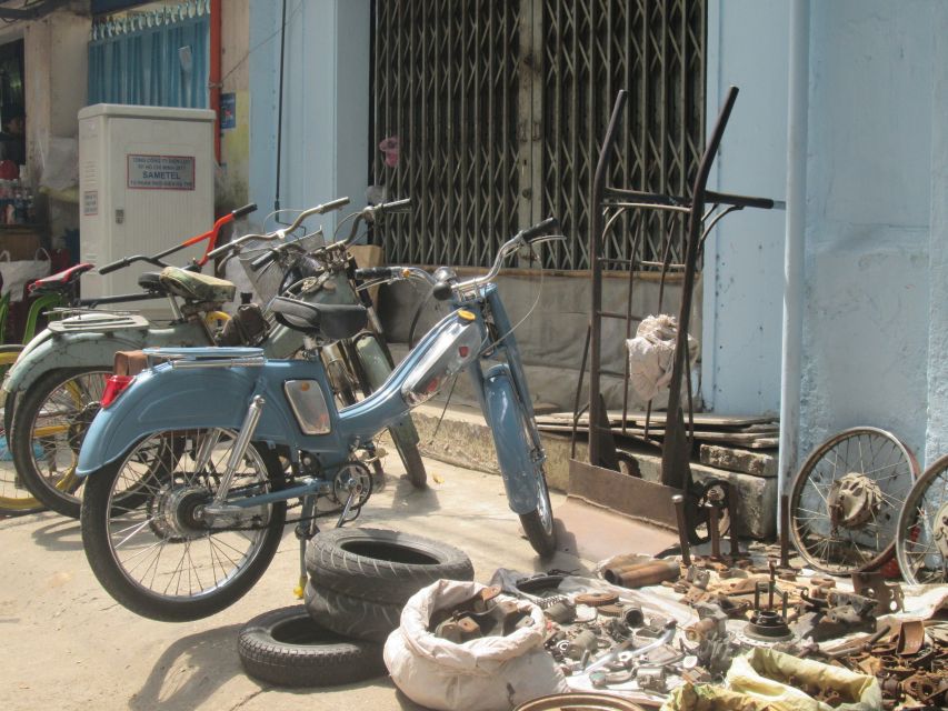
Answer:
MULTIPOLYGON (((377 0, 372 143, 389 151, 375 152, 373 182, 415 200, 389 221, 388 260, 483 267, 553 214, 571 239, 543 266, 588 269, 592 173, 620 89, 631 130, 613 182, 687 193, 703 147, 705 36, 705 0, 377 0)), ((617 226, 605 256, 638 270, 682 261, 663 216, 641 240, 629 229, 617 226)))

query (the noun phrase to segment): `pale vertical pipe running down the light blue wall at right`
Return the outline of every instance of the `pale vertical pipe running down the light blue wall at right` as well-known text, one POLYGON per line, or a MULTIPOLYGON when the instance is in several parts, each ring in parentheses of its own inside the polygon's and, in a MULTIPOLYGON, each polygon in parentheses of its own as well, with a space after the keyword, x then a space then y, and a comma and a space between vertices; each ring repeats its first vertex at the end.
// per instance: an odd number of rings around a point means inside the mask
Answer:
MULTIPOLYGON (((809 116, 810 1, 790 3, 787 121, 787 234, 784 248, 784 328, 780 368, 778 498, 797 469, 804 340, 804 269, 807 229, 807 122, 809 116)), ((782 505, 782 504, 780 504, 782 505)), ((778 512, 779 513, 779 512, 778 512)), ((780 521, 780 517, 777 518, 780 521)))

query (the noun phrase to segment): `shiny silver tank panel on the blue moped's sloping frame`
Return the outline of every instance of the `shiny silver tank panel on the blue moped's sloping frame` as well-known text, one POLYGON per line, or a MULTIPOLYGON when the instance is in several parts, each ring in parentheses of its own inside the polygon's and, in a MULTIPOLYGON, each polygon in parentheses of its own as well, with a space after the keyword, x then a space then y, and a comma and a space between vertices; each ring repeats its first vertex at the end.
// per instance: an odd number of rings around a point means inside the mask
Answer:
POLYGON ((427 402, 445 382, 480 354, 480 328, 472 321, 456 321, 431 344, 401 387, 401 397, 411 407, 427 402))

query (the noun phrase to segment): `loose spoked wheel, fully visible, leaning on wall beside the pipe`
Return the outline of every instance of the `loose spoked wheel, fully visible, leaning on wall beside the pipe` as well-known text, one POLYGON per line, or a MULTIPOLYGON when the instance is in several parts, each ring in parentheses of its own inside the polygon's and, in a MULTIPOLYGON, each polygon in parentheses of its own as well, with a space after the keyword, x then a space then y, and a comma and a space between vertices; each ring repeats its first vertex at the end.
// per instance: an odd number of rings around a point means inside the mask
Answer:
POLYGON ((886 562, 917 475, 915 455, 885 430, 831 437, 807 458, 790 491, 790 533, 800 555, 837 575, 886 562))

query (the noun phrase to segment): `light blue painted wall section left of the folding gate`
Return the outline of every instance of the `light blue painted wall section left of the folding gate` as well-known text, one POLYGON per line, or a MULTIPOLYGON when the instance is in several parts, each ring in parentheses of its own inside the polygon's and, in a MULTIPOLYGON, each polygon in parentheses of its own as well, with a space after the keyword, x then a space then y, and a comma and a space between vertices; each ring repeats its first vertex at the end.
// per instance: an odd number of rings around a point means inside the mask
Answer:
MULTIPOLYGON (((281 2, 251 0, 250 198, 273 209, 281 2)), ((348 196, 365 204, 369 137, 369 0, 286 0, 280 204, 348 196)), ((331 231, 347 210, 322 220, 331 231)), ((315 221, 313 224, 318 224, 315 221)))

